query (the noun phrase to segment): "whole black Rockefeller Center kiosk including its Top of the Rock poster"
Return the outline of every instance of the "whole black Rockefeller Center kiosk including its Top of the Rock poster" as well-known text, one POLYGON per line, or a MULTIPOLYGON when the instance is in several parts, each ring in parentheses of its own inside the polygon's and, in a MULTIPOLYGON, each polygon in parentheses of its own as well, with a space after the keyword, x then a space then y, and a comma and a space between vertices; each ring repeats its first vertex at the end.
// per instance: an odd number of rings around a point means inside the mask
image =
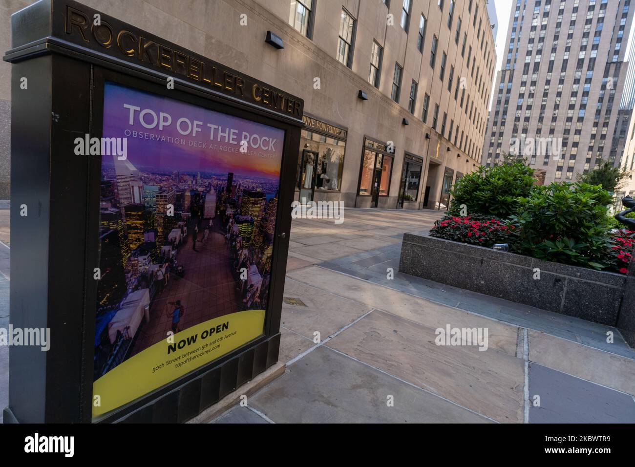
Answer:
POLYGON ((11 17, 5 422, 182 422, 277 362, 304 102, 72 0, 11 17))

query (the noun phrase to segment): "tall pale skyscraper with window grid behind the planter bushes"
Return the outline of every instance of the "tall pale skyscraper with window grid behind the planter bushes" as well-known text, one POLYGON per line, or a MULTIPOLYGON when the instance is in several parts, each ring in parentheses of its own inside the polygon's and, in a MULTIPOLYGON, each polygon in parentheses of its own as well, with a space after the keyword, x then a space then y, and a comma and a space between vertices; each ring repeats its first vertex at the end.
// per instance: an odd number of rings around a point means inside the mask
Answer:
MULTIPOLYGON (((483 164, 518 152, 545 183, 618 165, 631 0, 516 0, 483 164), (532 149, 533 148, 533 149, 532 149)), ((623 118, 623 117, 622 117, 623 118)))

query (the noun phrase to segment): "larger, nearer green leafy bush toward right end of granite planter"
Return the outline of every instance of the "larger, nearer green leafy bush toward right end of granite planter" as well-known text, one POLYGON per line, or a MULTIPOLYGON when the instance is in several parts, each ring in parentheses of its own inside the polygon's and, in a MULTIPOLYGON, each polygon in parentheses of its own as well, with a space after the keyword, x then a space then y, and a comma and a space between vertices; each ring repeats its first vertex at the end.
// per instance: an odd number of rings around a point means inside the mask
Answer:
POLYGON ((612 266, 607 234, 610 194, 601 186, 578 182, 535 187, 518 198, 518 242, 512 250, 545 261, 603 269, 612 266))

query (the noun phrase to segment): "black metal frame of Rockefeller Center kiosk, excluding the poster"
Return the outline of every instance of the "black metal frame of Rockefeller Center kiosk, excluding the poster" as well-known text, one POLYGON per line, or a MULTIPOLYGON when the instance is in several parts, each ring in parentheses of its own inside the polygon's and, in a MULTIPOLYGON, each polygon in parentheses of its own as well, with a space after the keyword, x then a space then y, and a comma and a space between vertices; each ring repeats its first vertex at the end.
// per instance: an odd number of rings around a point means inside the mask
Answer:
POLYGON ((187 421, 277 362, 304 101, 72 0, 14 13, 11 46, 11 324, 52 337, 46 352, 11 347, 5 423, 93 421, 101 156, 74 140, 101 136, 105 81, 284 130, 263 334, 98 419, 187 421))

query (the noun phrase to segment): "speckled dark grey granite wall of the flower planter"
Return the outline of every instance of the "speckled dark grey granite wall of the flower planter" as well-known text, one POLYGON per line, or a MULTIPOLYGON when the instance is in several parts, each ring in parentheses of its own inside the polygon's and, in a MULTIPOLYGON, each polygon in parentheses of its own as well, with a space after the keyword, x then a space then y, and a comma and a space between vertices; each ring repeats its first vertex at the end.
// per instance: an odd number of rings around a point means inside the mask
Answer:
POLYGON ((403 236, 399 272, 605 325, 627 322, 620 319, 624 274, 409 233, 403 236), (533 278, 535 268, 540 280, 533 278))

